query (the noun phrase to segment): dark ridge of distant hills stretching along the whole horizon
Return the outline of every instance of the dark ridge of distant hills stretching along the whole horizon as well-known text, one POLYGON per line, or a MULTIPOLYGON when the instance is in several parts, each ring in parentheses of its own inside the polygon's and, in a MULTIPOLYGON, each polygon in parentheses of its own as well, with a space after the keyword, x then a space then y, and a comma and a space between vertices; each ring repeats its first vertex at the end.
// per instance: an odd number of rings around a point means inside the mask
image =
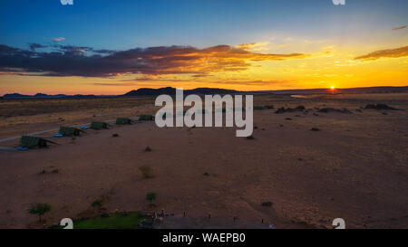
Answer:
MULTIPOLYGON (((311 89, 311 90, 255 90, 255 91, 239 91, 239 90, 225 90, 217 88, 197 88, 194 90, 184 90, 184 95, 188 94, 322 94, 330 92, 329 89, 311 89)), ((335 89, 335 93, 387 93, 387 92, 408 92, 408 86, 403 87, 367 87, 367 88, 350 88, 350 89, 335 89)), ((176 89, 171 87, 160 88, 160 89, 150 89, 142 88, 138 90, 131 90, 123 95, 65 95, 56 94, 49 95, 45 93, 37 93, 35 95, 24 95, 20 93, 7 93, 2 98, 3 99, 47 99, 47 98, 92 98, 92 97, 137 97, 137 96, 157 96, 160 94, 174 95, 176 94, 176 89)))

